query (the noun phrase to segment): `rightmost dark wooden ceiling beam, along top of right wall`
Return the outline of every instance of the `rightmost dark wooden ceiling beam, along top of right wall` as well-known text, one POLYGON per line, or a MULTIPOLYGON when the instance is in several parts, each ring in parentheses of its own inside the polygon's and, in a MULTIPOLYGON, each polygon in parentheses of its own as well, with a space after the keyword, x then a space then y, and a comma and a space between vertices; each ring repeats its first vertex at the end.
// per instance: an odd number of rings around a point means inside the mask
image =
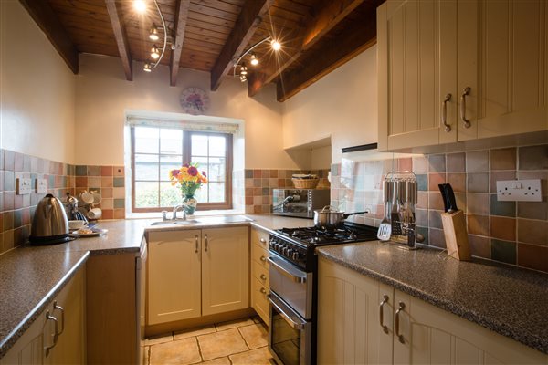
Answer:
POLYGON ((376 14, 372 13, 356 26, 347 27, 338 36, 307 54, 301 68, 282 75, 277 83, 277 99, 285 101, 306 89, 335 68, 358 56, 376 43, 376 14))

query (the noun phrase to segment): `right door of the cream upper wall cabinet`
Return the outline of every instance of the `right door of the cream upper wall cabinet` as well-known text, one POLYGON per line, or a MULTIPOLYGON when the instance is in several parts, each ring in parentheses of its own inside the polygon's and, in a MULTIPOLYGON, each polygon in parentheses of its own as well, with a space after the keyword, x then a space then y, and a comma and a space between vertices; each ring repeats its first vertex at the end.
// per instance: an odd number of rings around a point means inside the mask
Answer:
POLYGON ((544 0, 458 2, 459 141, 548 129, 547 12, 544 0))

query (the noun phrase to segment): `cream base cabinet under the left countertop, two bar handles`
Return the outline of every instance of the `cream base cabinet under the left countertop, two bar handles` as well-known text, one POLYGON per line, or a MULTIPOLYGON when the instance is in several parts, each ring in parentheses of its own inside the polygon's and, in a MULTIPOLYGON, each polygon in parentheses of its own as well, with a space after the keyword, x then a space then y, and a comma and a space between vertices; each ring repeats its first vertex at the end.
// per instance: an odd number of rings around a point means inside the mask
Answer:
POLYGON ((0 364, 86 363, 85 271, 79 269, 0 364))

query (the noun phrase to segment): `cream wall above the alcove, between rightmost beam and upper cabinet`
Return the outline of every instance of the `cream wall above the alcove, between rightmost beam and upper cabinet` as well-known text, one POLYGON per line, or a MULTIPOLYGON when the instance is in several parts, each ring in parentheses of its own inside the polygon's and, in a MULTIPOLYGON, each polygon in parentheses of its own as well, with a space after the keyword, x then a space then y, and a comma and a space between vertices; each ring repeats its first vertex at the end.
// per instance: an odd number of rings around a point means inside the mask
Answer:
POLYGON ((332 162, 341 148, 377 141, 376 46, 283 103, 283 145, 332 137, 332 162))

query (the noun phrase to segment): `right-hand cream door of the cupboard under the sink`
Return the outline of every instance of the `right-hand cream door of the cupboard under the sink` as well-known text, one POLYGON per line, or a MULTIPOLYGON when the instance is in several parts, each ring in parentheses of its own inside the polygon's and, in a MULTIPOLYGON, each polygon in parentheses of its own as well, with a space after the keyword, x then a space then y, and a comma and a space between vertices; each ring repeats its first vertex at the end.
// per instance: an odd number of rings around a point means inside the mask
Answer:
POLYGON ((249 307, 248 227, 202 230, 202 314, 249 307))

